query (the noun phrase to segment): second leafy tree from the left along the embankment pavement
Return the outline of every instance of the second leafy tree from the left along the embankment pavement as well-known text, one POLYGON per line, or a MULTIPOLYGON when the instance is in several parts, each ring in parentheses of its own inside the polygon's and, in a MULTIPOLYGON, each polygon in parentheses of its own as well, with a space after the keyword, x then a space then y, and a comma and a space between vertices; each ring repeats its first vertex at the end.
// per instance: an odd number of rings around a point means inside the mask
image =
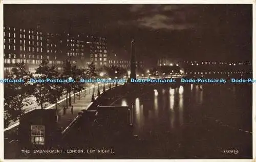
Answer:
MULTIPOLYGON (((36 68, 36 73, 35 73, 35 79, 36 80, 47 80, 49 79, 54 79, 58 77, 58 73, 54 70, 54 66, 49 66, 48 65, 48 60, 43 59, 41 64, 39 65, 38 68, 36 68)), ((35 82, 33 83, 34 85, 34 92, 33 95, 36 98, 36 102, 38 105, 41 106, 41 109, 44 109, 43 105, 46 102, 51 102, 51 98, 53 95, 53 90, 52 90, 52 85, 47 82, 35 82)))

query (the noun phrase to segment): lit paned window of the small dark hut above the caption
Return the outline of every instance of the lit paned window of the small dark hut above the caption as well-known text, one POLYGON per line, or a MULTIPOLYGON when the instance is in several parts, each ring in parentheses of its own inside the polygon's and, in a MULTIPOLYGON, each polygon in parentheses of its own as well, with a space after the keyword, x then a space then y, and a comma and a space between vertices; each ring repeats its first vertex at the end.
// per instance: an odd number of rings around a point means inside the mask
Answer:
POLYGON ((33 145, 45 145, 44 125, 31 125, 31 143, 33 145))

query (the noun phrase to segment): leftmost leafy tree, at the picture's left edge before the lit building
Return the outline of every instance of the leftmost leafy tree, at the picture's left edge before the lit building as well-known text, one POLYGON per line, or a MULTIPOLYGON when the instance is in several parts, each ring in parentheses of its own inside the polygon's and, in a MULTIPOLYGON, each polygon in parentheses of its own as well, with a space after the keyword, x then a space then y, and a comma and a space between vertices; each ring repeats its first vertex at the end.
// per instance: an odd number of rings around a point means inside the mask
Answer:
POLYGON ((24 113, 24 99, 30 97, 33 87, 29 80, 32 77, 25 68, 24 62, 16 63, 16 67, 5 76, 8 80, 24 80, 24 82, 4 83, 4 127, 8 127, 11 121, 16 121, 24 113))

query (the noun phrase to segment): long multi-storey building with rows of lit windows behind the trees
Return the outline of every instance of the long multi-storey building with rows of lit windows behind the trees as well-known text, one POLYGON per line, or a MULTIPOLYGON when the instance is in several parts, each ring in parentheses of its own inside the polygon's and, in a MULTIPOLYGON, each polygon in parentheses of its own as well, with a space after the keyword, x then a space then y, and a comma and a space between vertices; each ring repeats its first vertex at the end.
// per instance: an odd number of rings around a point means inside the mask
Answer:
POLYGON ((24 62, 34 71, 42 59, 48 59, 56 70, 63 70, 69 59, 79 67, 94 62, 96 67, 107 64, 106 38, 86 34, 49 33, 37 29, 4 27, 4 70, 24 62))

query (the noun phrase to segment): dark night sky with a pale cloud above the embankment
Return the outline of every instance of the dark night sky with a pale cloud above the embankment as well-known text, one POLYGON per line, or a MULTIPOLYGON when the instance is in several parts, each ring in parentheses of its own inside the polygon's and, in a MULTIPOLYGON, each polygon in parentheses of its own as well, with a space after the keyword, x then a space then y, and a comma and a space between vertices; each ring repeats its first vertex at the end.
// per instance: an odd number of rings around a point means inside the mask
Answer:
POLYGON ((252 60, 252 5, 4 5, 4 25, 106 36, 121 57, 134 37, 149 63, 252 60))

